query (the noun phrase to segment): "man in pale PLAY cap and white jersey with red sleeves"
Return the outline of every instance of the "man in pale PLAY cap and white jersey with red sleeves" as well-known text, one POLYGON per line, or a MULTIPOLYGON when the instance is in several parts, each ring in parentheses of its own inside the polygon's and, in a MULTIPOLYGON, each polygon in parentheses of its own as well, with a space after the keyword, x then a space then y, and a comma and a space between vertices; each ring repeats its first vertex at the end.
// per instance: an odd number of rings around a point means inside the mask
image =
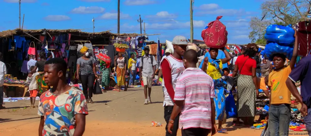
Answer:
MULTIPOLYGON (((187 50, 188 40, 183 36, 175 36, 173 39, 173 48, 174 53, 167 56, 161 62, 161 69, 163 72, 163 79, 165 82, 165 88, 163 89, 164 93, 164 118, 166 121, 166 136, 176 136, 178 130, 178 122, 179 122, 179 115, 175 118, 175 120, 170 120, 170 116, 173 111, 174 107, 174 95, 175 95, 175 86, 176 81, 179 75, 185 70, 183 66, 183 59, 182 55, 187 50), (174 123, 174 128, 172 130, 172 134, 168 132, 167 124, 169 122, 174 123)), ((191 45, 191 44, 190 44, 191 45)))

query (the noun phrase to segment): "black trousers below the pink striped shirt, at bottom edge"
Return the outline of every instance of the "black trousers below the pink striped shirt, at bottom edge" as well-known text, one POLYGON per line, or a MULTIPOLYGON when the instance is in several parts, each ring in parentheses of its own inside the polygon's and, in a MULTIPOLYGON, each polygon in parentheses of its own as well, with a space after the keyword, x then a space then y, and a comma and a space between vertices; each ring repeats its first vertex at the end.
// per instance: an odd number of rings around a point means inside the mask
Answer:
POLYGON ((207 136, 210 132, 211 129, 203 128, 181 129, 181 136, 207 136))

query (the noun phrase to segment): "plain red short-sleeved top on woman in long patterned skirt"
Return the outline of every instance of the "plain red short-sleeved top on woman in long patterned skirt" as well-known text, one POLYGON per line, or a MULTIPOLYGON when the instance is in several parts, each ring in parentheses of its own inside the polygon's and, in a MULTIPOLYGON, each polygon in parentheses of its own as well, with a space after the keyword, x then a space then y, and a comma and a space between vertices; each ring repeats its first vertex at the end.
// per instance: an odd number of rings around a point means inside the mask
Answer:
POLYGON ((256 61, 248 56, 241 55, 236 59, 235 66, 237 66, 239 70, 243 66, 240 71, 241 75, 252 75, 252 68, 256 68, 256 61))

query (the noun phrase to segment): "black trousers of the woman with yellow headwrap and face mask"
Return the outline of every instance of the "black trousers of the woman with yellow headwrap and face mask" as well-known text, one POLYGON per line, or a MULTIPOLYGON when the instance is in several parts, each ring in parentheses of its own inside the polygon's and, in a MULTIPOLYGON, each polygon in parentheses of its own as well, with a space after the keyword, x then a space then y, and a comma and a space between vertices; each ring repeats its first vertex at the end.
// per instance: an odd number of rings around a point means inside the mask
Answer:
POLYGON ((93 97, 93 88, 94 88, 94 82, 95 82, 95 75, 90 74, 90 75, 81 75, 81 82, 82 82, 82 89, 83 89, 83 94, 85 98, 91 98, 93 97), (89 91, 87 91, 89 89, 89 91))

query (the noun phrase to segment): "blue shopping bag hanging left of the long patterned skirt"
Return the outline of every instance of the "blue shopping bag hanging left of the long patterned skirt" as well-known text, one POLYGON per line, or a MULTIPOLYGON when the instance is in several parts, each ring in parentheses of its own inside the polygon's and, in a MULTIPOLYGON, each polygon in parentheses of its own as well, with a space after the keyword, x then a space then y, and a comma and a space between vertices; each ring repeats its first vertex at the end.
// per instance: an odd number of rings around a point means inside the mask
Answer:
POLYGON ((237 109, 235 107, 235 101, 234 101, 234 96, 232 94, 232 91, 230 91, 229 96, 226 97, 226 114, 227 114, 227 119, 229 118, 236 118, 238 116, 237 109))

